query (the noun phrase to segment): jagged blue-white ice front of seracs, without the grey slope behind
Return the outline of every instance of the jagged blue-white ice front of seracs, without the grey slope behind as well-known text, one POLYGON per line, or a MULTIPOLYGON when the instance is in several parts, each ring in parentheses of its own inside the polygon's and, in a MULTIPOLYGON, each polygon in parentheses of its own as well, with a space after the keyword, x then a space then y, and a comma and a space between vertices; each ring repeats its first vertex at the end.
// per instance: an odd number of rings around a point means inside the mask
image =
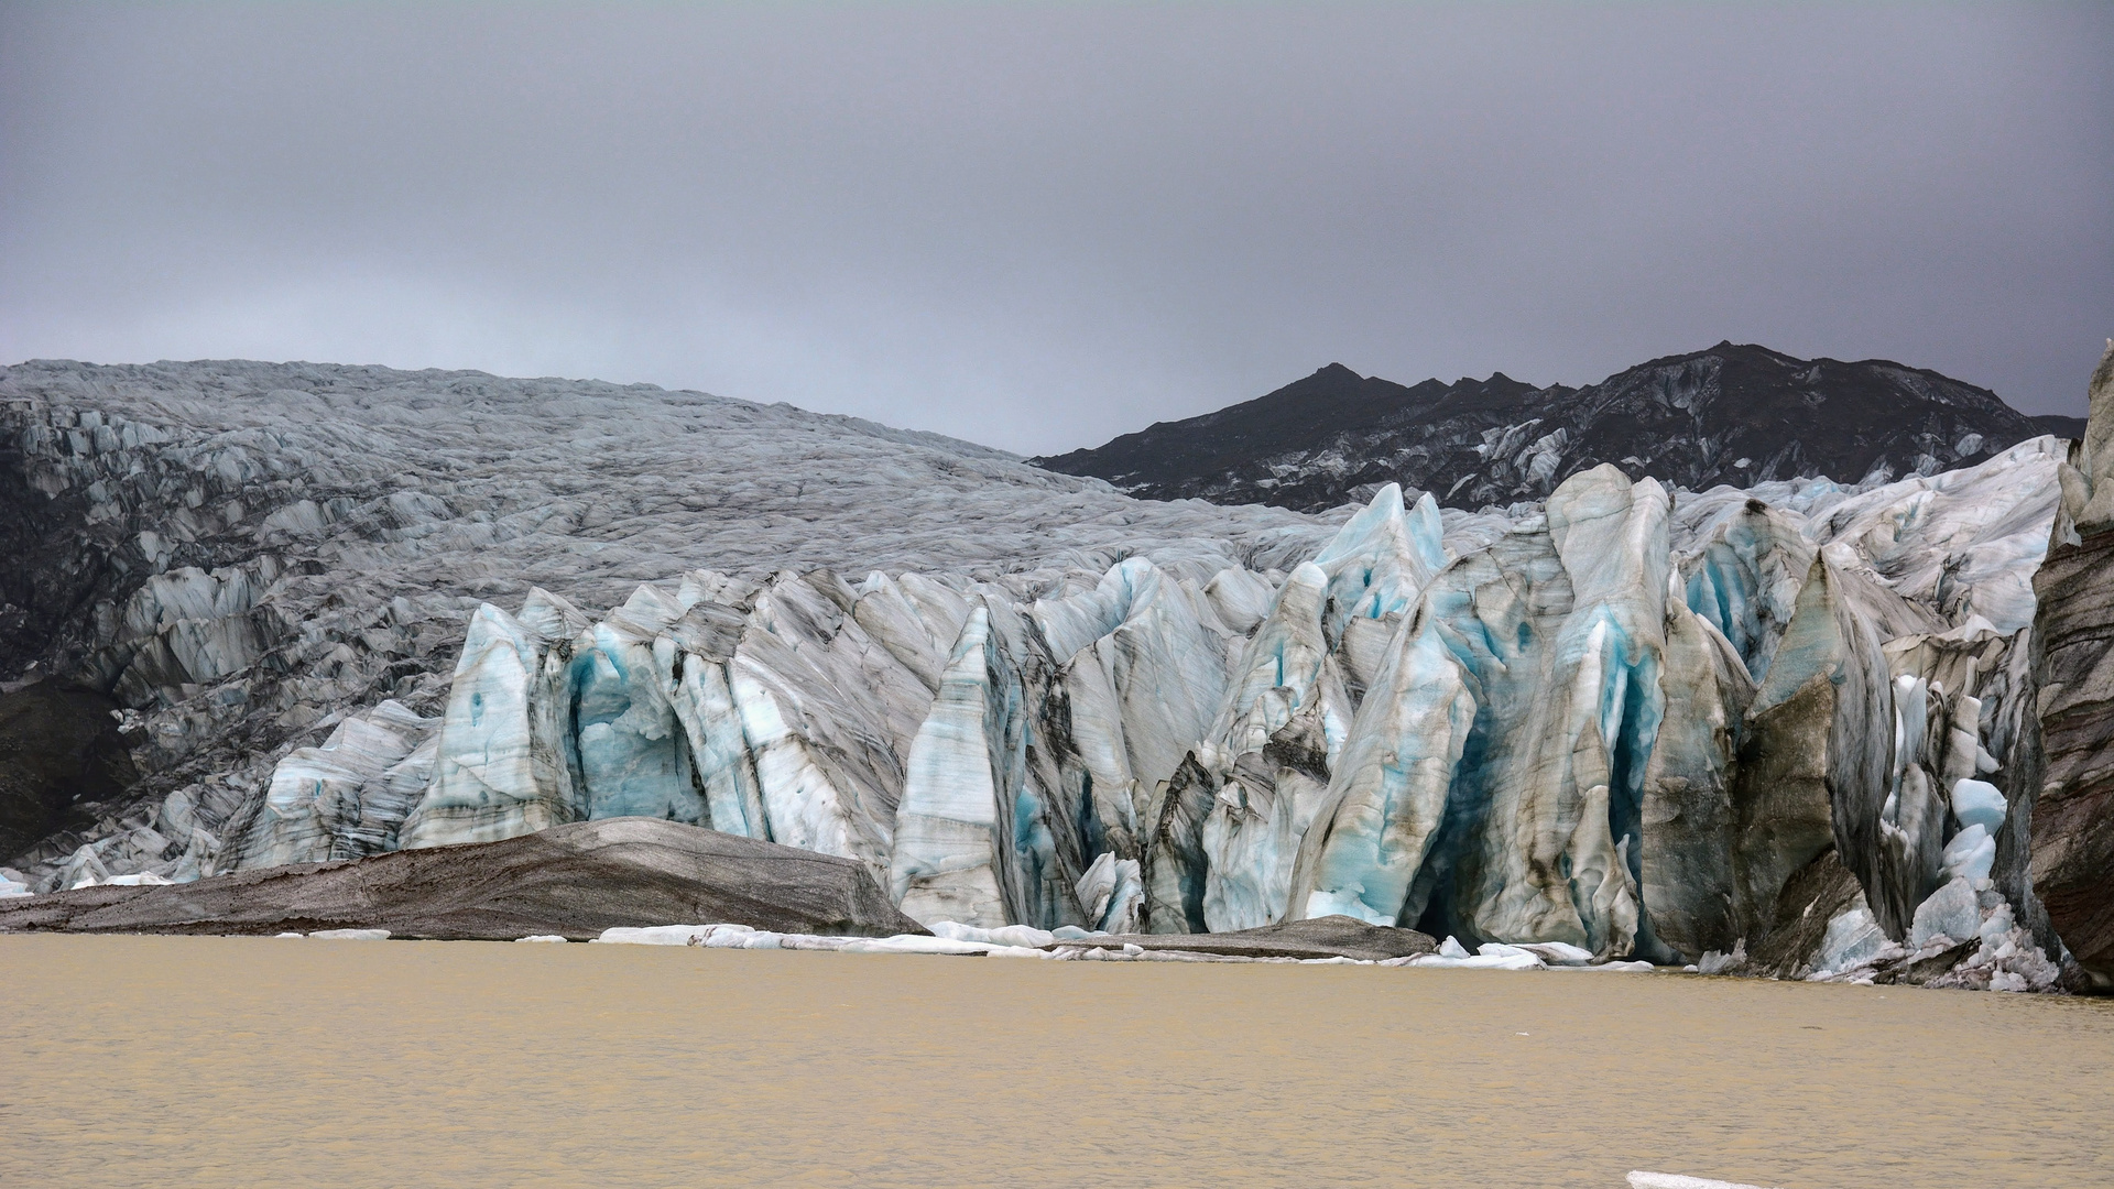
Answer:
MULTIPOLYGON (((1932 567, 1941 592, 1879 563, 1947 504, 2036 506, 2019 531, 2044 539, 2057 461, 2034 442, 1949 484, 1685 518, 1598 468, 1471 548, 1448 548, 1429 495, 1385 489, 1281 575, 698 573, 596 622, 535 590, 471 616, 408 812, 381 776, 404 738, 332 785, 336 817, 260 817, 239 865, 317 834, 351 853, 340 823, 387 834, 393 812, 402 846, 643 815, 858 859, 928 927, 1340 914, 1693 963, 1765 935, 1831 855, 1879 935, 1922 944, 1932 899, 1994 886, 2004 793, 1974 774, 2021 709, 2002 675, 2029 620, 2004 567, 1932 567)), ((1989 546, 1941 531, 1928 548, 1989 546)), ((307 781, 328 751, 279 772, 307 781)))

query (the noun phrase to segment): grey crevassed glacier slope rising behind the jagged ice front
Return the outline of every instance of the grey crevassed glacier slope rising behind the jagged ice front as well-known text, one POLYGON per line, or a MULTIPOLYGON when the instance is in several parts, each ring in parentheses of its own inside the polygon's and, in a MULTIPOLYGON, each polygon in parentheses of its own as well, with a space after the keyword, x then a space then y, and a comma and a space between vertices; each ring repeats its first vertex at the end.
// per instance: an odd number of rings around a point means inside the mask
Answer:
POLYGON ((137 768, 118 787, 21 789, 34 812, 0 812, 0 863, 226 870, 296 747, 323 753, 332 804, 370 806, 345 850, 393 846, 395 810, 372 806, 408 812, 427 787, 471 616, 537 586, 607 607, 693 567, 1032 582, 1137 554, 1213 573, 1285 567, 1323 539, 1292 512, 1148 504, 968 442, 651 385, 0 368, 0 681, 87 685, 101 709, 72 734, 123 711, 125 747, 89 762, 137 768))

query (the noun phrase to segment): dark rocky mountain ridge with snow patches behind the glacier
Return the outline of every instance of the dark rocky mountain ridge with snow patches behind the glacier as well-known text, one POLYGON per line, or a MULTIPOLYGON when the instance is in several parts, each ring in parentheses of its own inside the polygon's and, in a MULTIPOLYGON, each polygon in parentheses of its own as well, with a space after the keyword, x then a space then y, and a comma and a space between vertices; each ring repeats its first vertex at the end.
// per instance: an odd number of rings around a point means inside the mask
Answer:
POLYGON ((1600 463, 1704 491, 1797 476, 1854 484, 1972 465, 2074 417, 1886 360, 1795 360, 1719 343, 1581 389, 1505 374, 1414 387, 1342 364, 1268 396, 1034 459, 1152 499, 1325 510, 1399 482, 1440 504, 1541 499, 1600 463))

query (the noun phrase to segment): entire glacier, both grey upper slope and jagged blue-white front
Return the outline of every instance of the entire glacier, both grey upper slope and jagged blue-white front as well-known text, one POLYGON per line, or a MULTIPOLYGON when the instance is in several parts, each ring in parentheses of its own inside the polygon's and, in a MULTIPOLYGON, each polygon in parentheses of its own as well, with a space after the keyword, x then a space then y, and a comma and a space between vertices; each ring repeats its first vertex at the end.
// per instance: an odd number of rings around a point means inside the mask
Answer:
POLYGON ((42 889, 657 817, 981 929, 2063 956, 2029 872, 2053 438, 1313 518, 660 389, 36 364, 0 400, 21 499, 87 508, 87 603, 129 586, 40 662, 114 690, 165 789, 34 850, 42 889))

